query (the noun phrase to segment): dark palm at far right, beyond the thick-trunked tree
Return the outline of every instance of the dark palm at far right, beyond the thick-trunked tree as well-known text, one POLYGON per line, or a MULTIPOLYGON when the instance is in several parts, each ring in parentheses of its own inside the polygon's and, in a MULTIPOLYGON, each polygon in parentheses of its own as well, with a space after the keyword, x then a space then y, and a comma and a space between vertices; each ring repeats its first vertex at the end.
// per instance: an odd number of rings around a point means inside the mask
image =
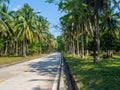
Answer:
POLYGON ((110 10, 106 12, 104 16, 102 16, 102 23, 101 26, 103 28, 103 32, 105 33, 106 37, 109 39, 106 39, 106 42, 108 42, 106 45, 108 47, 108 57, 112 57, 112 47, 114 44, 113 38, 118 38, 117 34, 119 33, 119 13, 114 13, 114 7, 112 7, 110 10), (110 44, 110 45, 109 45, 110 44), (111 46, 112 45, 112 46, 111 46), (110 47, 111 46, 111 47, 110 47))

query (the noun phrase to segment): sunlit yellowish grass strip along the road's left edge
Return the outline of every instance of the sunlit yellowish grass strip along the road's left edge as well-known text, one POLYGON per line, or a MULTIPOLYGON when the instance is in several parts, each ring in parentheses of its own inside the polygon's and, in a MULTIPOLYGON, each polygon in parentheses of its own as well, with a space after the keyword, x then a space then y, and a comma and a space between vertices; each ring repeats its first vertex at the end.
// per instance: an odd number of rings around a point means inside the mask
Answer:
MULTIPOLYGON (((39 57, 43 57, 47 54, 41 54, 41 55, 33 55, 33 56, 27 56, 26 60, 32 60, 35 58, 39 58, 39 57)), ((4 64, 11 64, 13 62, 18 62, 18 61, 22 61, 23 58, 22 57, 0 57, 0 65, 4 65, 4 64)))

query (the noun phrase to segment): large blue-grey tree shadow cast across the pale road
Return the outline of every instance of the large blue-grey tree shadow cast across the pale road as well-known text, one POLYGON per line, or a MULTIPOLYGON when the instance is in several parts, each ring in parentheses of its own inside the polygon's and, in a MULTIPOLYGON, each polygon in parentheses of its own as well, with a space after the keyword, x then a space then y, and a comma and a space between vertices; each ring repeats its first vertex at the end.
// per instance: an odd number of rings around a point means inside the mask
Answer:
POLYGON ((37 74, 40 74, 42 76, 56 76, 60 63, 58 59, 59 57, 53 55, 46 57, 44 61, 31 63, 29 64, 29 67, 31 68, 29 72, 36 72, 37 74))

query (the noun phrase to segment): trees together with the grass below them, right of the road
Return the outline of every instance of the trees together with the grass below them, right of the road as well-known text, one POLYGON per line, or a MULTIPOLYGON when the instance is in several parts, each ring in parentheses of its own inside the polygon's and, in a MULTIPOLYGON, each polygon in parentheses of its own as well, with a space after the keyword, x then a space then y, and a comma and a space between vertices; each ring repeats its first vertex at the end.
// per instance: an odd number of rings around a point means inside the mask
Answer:
POLYGON ((64 52, 80 90, 120 90, 120 1, 57 3, 64 13, 58 50, 64 52))

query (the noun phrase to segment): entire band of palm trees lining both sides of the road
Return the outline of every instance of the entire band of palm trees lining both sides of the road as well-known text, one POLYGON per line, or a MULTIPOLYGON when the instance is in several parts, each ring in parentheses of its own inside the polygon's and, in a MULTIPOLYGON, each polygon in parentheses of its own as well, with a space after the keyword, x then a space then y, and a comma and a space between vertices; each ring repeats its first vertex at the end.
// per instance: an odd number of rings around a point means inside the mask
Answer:
MULTIPOLYGON (((55 0, 46 0, 53 2, 55 0)), ((55 1, 56 2, 56 1, 55 1)), ((0 0, 0 55, 26 55, 65 51, 72 55, 112 57, 120 52, 119 0, 59 0, 63 34, 57 41, 49 22, 25 4, 8 12, 9 0, 0 0), (103 54, 104 53, 104 54, 103 54)))

